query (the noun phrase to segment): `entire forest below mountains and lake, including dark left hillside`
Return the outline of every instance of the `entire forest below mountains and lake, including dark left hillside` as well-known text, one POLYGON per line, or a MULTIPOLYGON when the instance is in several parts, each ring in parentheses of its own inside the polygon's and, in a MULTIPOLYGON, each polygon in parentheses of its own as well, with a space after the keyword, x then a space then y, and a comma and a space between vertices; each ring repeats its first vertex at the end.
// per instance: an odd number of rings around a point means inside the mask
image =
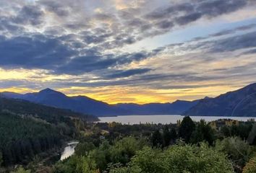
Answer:
POLYGON ((97 123, 97 117, 0 99, 0 172, 256 172, 256 124, 237 120, 174 124, 97 123), (79 141, 59 161, 64 143, 79 141), (54 155, 55 154, 55 155, 54 155), (54 156, 54 161, 42 161, 54 156))

